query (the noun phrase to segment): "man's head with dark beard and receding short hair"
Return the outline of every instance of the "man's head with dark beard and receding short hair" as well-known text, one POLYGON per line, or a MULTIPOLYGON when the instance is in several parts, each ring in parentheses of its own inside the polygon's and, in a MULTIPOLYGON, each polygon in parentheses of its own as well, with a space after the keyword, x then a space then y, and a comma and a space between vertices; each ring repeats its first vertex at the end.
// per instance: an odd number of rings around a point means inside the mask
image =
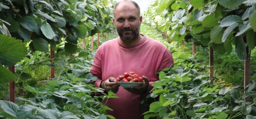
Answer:
POLYGON ((142 17, 139 18, 136 6, 131 2, 121 2, 114 14, 113 22, 120 38, 126 42, 138 38, 142 17))

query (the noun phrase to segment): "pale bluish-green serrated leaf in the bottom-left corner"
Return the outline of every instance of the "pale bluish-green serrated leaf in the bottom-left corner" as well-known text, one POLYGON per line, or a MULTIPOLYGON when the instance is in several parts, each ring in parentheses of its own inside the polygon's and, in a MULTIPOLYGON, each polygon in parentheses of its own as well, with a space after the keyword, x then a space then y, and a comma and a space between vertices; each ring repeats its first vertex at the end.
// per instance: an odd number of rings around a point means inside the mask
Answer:
POLYGON ((15 103, 9 101, 0 101, 0 107, 5 113, 8 113, 13 117, 16 117, 16 113, 19 108, 15 103))

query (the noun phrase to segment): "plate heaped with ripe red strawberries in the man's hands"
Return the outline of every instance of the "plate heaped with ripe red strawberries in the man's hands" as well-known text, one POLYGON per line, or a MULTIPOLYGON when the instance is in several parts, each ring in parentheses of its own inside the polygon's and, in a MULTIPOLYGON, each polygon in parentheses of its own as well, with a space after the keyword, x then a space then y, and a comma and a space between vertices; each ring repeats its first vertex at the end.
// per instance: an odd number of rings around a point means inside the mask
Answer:
POLYGON ((133 71, 125 72, 124 75, 120 75, 116 78, 116 83, 124 88, 141 85, 143 82, 143 78, 140 77, 138 74, 135 74, 135 72, 133 71))

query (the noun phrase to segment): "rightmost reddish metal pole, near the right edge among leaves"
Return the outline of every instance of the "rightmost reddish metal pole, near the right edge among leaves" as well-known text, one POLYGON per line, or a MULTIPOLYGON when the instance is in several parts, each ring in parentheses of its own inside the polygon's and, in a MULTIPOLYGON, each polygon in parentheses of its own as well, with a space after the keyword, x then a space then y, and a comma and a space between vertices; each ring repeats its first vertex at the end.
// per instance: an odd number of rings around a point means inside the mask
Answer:
MULTIPOLYGON (((251 69, 251 52, 248 54, 248 59, 244 60, 244 89, 250 83, 250 69, 251 69)), ((245 91, 244 91, 245 93, 245 91)), ((250 97, 245 97, 245 100, 250 100, 250 97)))

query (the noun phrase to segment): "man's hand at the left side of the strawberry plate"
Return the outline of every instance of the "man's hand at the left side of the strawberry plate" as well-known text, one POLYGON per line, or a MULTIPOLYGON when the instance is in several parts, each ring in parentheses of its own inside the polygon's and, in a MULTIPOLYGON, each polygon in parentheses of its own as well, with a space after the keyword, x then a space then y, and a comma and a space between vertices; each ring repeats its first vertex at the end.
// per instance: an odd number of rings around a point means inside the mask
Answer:
POLYGON ((101 88, 105 89, 107 92, 112 91, 117 93, 119 86, 120 85, 116 83, 116 79, 114 77, 110 77, 107 80, 103 80, 101 82, 101 88))

